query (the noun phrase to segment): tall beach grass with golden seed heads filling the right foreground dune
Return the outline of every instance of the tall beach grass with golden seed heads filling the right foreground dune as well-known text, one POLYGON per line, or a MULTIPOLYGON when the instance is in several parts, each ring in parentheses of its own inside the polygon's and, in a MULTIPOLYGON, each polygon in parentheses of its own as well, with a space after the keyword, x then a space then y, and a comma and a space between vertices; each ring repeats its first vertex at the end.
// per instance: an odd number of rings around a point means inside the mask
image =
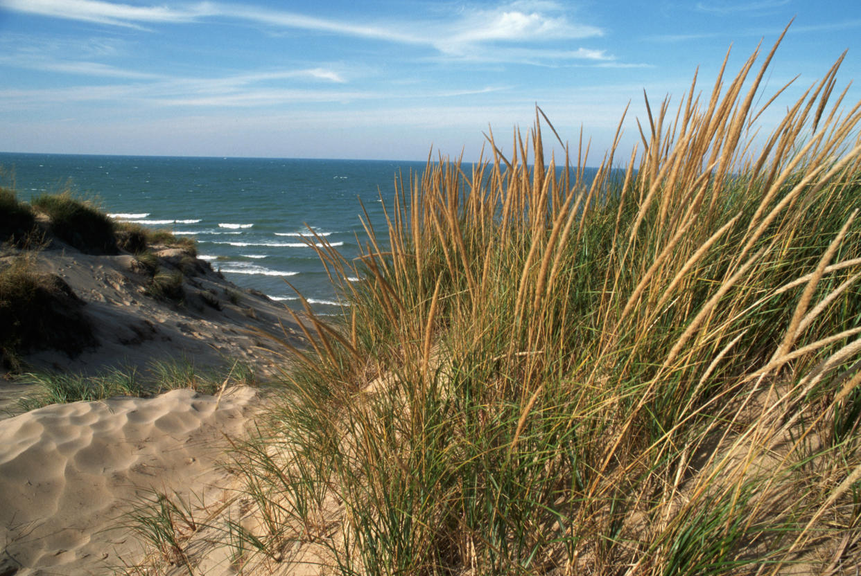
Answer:
POLYGON ((838 61, 758 133, 775 49, 647 101, 592 181, 539 109, 505 154, 489 133, 485 162, 400 177, 359 260, 314 238, 350 305, 307 307, 238 450, 264 527, 243 549, 319 542, 345 574, 854 573, 861 104, 838 61))

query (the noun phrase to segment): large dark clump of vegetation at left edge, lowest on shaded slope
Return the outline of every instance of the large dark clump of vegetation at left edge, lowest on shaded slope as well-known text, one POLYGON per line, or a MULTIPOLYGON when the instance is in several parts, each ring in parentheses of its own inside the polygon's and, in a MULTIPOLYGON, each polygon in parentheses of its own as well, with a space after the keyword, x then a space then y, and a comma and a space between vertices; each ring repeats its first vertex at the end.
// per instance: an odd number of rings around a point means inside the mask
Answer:
POLYGON ((55 348, 75 355, 95 344, 84 302, 59 276, 38 273, 20 256, 0 263, 0 354, 18 369, 18 355, 55 348))

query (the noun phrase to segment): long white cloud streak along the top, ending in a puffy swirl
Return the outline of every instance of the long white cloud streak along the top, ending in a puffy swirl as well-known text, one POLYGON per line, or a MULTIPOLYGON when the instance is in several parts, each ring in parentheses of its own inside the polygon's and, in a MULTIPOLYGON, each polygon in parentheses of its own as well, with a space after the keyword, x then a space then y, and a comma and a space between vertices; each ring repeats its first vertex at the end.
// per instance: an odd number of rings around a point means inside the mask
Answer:
POLYGON ((429 46, 451 58, 482 61, 522 61, 548 58, 610 59, 604 51, 576 47, 568 50, 533 52, 527 59, 503 48, 532 46, 549 41, 570 44, 573 40, 597 38, 602 28, 573 21, 567 7, 546 0, 516 0, 489 9, 464 8, 452 17, 438 20, 354 22, 304 15, 237 3, 192 3, 182 8, 132 6, 103 0, 0 0, 0 6, 34 15, 90 21, 111 26, 147 29, 156 24, 181 24, 212 19, 253 22, 270 28, 291 28, 429 46))

